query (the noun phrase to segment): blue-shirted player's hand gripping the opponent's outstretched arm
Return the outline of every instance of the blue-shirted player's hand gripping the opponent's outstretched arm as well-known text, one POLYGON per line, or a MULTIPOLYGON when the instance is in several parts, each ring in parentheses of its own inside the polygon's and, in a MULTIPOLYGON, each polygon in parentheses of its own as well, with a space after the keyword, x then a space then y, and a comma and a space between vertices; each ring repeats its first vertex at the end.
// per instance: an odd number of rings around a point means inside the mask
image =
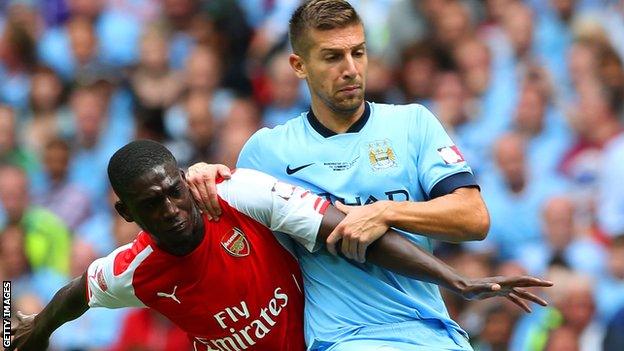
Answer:
POLYGON ((337 255, 336 243, 342 240, 342 254, 358 262, 366 261, 366 249, 387 230, 383 213, 389 201, 378 201, 365 206, 347 206, 336 202, 338 210, 347 216, 327 237, 327 250, 337 255))

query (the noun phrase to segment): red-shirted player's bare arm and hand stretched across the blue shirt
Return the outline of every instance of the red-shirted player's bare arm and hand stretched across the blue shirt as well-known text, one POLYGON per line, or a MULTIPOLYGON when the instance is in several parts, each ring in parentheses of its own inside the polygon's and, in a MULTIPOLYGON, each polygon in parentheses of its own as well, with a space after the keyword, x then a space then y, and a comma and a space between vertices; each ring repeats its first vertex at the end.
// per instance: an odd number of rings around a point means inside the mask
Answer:
MULTIPOLYGON (((319 244, 325 243, 344 216, 335 207, 328 207, 317 236, 319 244)), ((466 299, 506 297, 527 312, 531 309, 526 301, 542 306, 547 303, 524 288, 552 286, 551 282, 529 276, 468 279, 392 229, 368 247, 366 258, 368 262, 395 273, 443 286, 466 299)))

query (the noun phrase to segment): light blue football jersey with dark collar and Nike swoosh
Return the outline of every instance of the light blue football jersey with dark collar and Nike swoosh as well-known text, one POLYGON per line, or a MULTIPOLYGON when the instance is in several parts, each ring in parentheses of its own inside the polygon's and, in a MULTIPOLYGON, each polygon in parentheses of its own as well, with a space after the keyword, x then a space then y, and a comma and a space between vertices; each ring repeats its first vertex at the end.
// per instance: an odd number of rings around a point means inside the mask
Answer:
MULTIPOLYGON (((439 121, 416 104, 367 102, 363 116, 344 134, 325 128, 311 111, 303 113, 256 132, 241 151, 237 167, 266 172, 349 205, 426 201, 476 186, 439 121)), ((432 239, 406 235, 432 251, 432 239)), ((325 248, 309 253, 296 246, 295 251, 305 283, 310 350, 349 340, 365 326, 421 319, 439 320, 441 329, 465 335, 449 318, 434 284, 337 258, 325 248)))

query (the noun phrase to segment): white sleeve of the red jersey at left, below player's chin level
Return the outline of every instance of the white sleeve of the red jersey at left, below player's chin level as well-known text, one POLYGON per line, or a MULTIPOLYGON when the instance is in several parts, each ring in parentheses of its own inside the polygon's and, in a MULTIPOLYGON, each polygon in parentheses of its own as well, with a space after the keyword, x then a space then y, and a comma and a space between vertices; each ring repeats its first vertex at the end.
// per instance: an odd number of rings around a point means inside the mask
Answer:
MULTIPOLYGON (((145 307, 134 294, 134 287, 132 286, 134 269, 127 269, 118 275, 114 274, 115 258, 117 255, 130 250, 131 246, 132 244, 124 245, 89 265, 87 269, 89 307, 145 307)), ((145 255, 147 252, 141 254, 145 255)))

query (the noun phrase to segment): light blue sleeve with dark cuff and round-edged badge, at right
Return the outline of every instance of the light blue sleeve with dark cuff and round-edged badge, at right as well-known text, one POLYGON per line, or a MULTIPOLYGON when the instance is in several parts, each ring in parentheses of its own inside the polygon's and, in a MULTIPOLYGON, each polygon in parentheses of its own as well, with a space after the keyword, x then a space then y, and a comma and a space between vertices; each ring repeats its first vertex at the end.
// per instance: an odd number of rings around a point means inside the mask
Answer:
POLYGON ((409 131, 410 151, 428 198, 460 187, 477 187, 464 156, 438 119, 421 105, 415 105, 414 114, 409 131))

